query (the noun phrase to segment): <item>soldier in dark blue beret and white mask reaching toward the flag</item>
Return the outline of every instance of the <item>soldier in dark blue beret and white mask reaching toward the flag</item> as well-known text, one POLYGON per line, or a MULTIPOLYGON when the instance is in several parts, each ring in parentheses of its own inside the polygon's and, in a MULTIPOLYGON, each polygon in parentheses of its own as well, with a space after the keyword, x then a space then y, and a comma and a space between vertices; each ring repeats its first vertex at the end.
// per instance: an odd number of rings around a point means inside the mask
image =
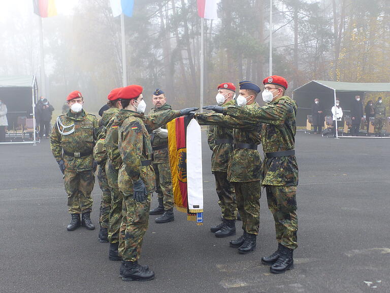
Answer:
MULTIPOLYGON (((256 84, 241 81, 237 105, 239 107, 246 105, 249 109, 259 108, 255 103, 255 98, 260 91, 261 89, 256 84)), ((209 109, 208 107, 205 108, 209 109)), ((259 229, 262 160, 257 152, 257 145, 261 143, 261 125, 251 130, 242 130, 237 129, 236 119, 230 116, 219 113, 197 113, 196 117, 201 125, 234 128, 234 151, 229 160, 228 180, 233 182, 235 187, 237 208, 241 215, 244 232, 237 240, 231 241, 230 246, 238 248, 239 253, 249 253, 256 248, 259 229)))

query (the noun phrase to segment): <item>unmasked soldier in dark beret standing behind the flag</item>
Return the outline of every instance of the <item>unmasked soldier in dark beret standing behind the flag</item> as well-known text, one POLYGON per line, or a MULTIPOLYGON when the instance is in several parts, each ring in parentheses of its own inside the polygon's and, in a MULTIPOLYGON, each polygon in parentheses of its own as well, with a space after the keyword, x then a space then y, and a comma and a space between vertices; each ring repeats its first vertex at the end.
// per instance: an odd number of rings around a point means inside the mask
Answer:
MULTIPOLYGON (((165 93, 160 89, 154 91, 152 102, 154 108, 151 109, 151 114, 172 109, 172 107, 167 104, 165 93)), ((175 220, 175 216, 173 215, 174 198, 168 155, 167 125, 163 125, 162 127, 153 130, 150 135, 150 140, 153 149, 152 160, 153 169, 156 174, 158 206, 151 210, 149 215, 162 214, 163 216, 157 217, 154 221, 156 223, 168 223, 175 220)))

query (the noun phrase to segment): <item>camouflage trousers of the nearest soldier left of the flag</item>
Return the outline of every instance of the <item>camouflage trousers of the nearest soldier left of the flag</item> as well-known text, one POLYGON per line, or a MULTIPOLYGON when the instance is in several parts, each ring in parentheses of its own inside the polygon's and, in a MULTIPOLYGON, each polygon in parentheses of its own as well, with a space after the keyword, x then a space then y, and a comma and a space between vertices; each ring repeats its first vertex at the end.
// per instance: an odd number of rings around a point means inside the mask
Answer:
POLYGON ((151 193, 144 202, 137 202, 133 194, 123 194, 122 223, 119 232, 118 253, 124 261, 140 258, 142 242, 149 225, 151 193), (124 216, 125 215, 125 216, 124 216))

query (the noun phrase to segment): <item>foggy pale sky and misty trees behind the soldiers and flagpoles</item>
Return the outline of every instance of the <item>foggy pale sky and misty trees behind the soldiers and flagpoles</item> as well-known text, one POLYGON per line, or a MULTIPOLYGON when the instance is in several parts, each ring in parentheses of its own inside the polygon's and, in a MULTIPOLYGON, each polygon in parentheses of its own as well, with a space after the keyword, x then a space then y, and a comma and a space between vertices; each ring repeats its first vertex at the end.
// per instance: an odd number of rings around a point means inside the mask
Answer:
MULTIPOLYGON (((196 0, 135 0, 125 17, 127 84, 156 87, 174 108, 200 104, 201 19, 196 0)), ((206 21, 204 104, 221 82, 269 74, 269 0, 221 0, 206 21)), ((109 0, 57 0, 43 19, 46 97, 60 110, 79 90, 97 112, 122 85, 120 17, 109 0)), ((0 76, 36 74, 40 86, 39 16, 32 1, 0 2, 0 76)), ((289 91, 316 80, 389 82, 390 6, 386 0, 274 0, 273 74, 289 91)), ((382 95, 383 96, 383 95, 382 95)), ((385 98, 386 99, 386 98, 385 98)))

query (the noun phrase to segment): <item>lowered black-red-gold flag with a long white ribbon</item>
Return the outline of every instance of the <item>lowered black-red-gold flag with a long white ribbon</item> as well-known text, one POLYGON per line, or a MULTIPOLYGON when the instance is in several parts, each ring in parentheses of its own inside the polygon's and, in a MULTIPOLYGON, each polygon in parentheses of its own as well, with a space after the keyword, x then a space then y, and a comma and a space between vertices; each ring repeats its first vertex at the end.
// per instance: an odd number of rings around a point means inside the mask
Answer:
POLYGON ((190 116, 167 124, 169 162, 176 209, 187 220, 203 223, 201 127, 190 116), (188 151, 188 152, 187 152, 188 151))

